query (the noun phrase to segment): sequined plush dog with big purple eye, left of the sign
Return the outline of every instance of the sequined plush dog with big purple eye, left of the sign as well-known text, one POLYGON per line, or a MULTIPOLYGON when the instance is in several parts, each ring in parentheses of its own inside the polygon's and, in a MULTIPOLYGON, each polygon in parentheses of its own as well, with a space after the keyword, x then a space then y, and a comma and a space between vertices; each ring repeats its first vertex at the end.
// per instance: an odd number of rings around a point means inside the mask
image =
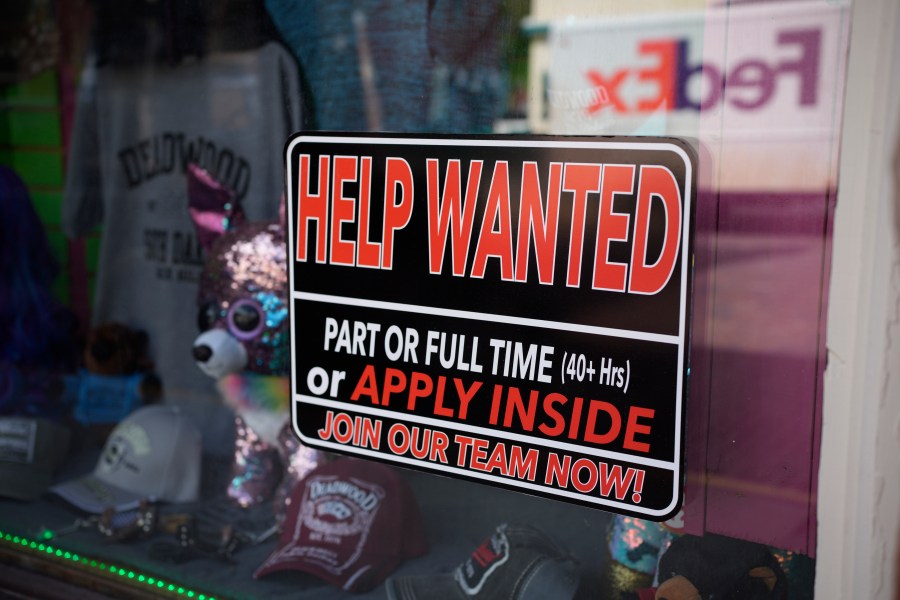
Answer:
POLYGON ((198 287, 193 345, 200 369, 234 409, 237 443, 229 495, 242 506, 271 496, 311 451, 291 437, 288 276, 281 221, 249 223, 231 192, 196 165, 188 168, 190 212, 206 262, 198 287), (288 449, 290 448, 290 449, 288 449), (279 454, 280 451, 280 454, 279 454))

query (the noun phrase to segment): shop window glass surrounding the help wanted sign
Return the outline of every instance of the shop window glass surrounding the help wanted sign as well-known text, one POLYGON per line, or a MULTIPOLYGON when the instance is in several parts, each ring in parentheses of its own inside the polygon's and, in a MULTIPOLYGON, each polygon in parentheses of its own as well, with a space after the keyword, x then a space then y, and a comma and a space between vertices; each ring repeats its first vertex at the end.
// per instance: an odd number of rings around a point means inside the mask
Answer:
MULTIPOLYGON (((51 597, 813 596, 847 3, 0 10, 0 585, 51 597), (673 518, 301 443, 285 227, 286 143, 300 131, 692 149, 673 518)), ((347 328, 334 339, 365 353, 365 325, 347 328)))

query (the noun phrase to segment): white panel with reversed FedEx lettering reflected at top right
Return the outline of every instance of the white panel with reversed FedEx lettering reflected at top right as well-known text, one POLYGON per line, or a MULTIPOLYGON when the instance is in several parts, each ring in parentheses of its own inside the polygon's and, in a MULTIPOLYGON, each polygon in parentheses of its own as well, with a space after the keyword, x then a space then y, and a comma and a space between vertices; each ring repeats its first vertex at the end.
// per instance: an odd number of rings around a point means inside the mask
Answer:
POLYGON ((731 133, 821 135, 848 21, 840 3, 779 2, 554 22, 549 126, 624 132, 656 116, 696 136, 701 115, 724 114, 731 133))

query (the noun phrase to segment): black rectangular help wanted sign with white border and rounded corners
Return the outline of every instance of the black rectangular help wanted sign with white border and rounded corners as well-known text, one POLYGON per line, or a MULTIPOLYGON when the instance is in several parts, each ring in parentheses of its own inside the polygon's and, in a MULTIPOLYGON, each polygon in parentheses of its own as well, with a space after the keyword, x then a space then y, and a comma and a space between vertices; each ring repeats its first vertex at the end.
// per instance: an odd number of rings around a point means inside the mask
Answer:
POLYGON ((298 134, 307 445, 665 520, 696 163, 674 138, 298 134))

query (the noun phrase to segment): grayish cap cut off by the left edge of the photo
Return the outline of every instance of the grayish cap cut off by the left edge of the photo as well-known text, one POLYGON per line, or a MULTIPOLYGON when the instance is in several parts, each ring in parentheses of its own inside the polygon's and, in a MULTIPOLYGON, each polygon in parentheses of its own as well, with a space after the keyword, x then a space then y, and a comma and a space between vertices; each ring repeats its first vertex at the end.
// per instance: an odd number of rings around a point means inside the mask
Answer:
POLYGON ((66 457, 67 427, 29 417, 0 417, 0 496, 34 500, 66 457))

